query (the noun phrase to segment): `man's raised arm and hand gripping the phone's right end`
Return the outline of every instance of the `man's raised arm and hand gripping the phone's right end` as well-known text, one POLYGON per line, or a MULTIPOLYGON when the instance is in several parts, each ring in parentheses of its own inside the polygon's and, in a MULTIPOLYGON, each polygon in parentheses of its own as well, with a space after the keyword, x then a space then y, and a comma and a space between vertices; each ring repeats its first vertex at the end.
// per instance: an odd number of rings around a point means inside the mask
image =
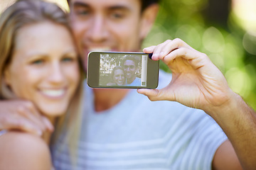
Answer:
MULTIPOLYGON (((238 154, 243 168, 255 169, 255 111, 229 88, 225 77, 210 59, 179 39, 166 40, 160 45, 144 49, 144 52, 153 52, 152 60, 162 60, 167 64, 173 79, 164 89, 139 89, 138 92, 148 96, 151 101, 178 101, 188 107, 202 109, 223 128, 235 149, 231 154, 238 154)), ((218 149, 216 160, 219 157, 223 157, 223 160, 233 157, 218 154, 225 147, 218 149)), ((239 163, 238 159, 232 159, 231 162, 230 166, 239 163)), ((225 167, 223 162, 218 161, 213 162, 213 166, 225 167)))

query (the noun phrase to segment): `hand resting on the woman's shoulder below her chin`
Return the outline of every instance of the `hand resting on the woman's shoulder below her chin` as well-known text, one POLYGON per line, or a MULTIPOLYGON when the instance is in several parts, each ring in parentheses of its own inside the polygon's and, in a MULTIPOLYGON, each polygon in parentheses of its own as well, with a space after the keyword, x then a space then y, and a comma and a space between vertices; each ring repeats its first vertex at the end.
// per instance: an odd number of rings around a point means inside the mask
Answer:
POLYGON ((0 101, 0 130, 14 129, 41 135, 53 125, 30 101, 0 101))

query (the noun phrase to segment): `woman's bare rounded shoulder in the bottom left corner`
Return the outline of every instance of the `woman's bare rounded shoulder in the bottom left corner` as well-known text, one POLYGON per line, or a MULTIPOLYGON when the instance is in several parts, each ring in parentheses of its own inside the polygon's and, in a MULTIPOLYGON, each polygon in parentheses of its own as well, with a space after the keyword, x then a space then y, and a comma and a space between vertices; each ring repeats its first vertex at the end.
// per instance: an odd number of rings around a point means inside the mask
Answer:
POLYGON ((0 169, 50 169, 46 142, 27 132, 10 131, 0 137, 0 169))

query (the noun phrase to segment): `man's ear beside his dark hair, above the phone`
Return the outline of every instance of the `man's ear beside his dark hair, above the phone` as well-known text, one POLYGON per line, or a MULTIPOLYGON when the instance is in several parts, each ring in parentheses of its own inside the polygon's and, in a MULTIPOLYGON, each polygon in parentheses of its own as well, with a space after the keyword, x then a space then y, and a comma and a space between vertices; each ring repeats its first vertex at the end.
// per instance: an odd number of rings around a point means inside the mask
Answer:
POLYGON ((151 30, 158 11, 159 5, 152 4, 151 6, 146 7, 142 12, 141 29, 139 33, 139 38, 141 40, 144 40, 144 38, 146 38, 146 35, 148 35, 149 31, 151 30))

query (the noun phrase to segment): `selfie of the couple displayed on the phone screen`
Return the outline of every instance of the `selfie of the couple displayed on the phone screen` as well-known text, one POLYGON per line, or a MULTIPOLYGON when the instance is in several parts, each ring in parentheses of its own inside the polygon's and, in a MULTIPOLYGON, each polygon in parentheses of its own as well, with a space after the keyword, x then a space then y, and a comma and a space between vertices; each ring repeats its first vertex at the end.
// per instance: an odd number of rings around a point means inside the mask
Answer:
POLYGON ((100 86, 146 86, 148 55, 100 55, 100 86))

